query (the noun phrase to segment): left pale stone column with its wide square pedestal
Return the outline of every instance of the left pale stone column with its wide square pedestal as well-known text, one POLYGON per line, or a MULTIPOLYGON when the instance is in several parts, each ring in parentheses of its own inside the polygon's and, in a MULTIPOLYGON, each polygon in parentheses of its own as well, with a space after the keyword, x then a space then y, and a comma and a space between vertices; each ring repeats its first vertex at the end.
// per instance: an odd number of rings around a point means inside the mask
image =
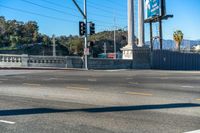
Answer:
POLYGON ((135 46, 134 0, 128 0, 128 45, 122 48, 123 59, 133 59, 133 47, 135 46))

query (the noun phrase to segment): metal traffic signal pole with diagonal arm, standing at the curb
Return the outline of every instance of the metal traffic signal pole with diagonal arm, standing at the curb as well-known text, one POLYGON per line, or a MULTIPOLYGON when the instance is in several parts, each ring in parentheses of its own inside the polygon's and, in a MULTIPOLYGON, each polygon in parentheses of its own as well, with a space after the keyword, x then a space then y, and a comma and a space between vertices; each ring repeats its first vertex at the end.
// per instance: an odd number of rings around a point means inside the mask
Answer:
MULTIPOLYGON (((85 44, 84 44, 84 51, 87 51, 88 50, 88 46, 87 46, 87 43, 88 43, 88 39, 87 39, 87 27, 88 27, 88 24, 87 24, 87 0, 84 0, 84 11, 81 10, 81 8, 79 7, 79 5, 77 4, 76 0, 72 0, 75 4, 75 6, 77 7, 77 9, 79 10, 79 12, 81 13, 81 15, 83 16, 83 19, 84 19, 84 23, 85 23, 85 37, 84 37, 84 40, 85 40, 85 44)), ((88 70, 88 56, 87 54, 84 52, 84 56, 85 56, 85 69, 88 70)))

